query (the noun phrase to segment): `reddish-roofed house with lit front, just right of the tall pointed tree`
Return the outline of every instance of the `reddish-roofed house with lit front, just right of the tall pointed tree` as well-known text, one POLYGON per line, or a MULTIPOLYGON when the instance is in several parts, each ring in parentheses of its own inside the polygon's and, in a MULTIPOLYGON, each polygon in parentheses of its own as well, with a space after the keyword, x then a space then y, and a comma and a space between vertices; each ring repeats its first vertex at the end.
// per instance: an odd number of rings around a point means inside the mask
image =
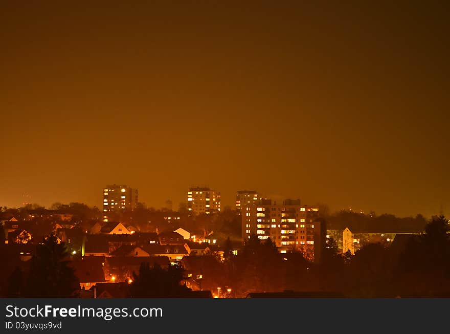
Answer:
POLYGON ((74 269, 75 276, 80 281, 82 290, 89 290, 93 285, 105 282, 103 266, 105 258, 103 256, 88 256, 70 262, 74 269))

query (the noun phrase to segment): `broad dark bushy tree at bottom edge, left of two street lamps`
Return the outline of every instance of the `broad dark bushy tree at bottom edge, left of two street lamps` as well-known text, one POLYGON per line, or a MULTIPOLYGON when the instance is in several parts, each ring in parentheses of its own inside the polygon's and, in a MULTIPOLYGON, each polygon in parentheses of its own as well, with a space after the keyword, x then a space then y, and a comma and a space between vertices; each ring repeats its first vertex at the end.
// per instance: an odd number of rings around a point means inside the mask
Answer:
POLYGON ((187 297, 191 290, 181 284, 184 279, 184 270, 178 265, 170 265, 165 270, 157 263, 151 268, 148 262, 143 262, 139 274, 133 273, 130 295, 132 298, 187 297))

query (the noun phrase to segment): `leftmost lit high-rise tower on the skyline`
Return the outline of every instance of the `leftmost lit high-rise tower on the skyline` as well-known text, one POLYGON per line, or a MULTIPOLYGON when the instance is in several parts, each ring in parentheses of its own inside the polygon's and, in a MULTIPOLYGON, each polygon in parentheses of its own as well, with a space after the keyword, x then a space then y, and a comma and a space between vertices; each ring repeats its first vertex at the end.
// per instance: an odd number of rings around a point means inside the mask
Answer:
POLYGON ((103 221, 108 221, 108 212, 133 210, 138 203, 138 189, 125 185, 110 185, 103 189, 103 221))

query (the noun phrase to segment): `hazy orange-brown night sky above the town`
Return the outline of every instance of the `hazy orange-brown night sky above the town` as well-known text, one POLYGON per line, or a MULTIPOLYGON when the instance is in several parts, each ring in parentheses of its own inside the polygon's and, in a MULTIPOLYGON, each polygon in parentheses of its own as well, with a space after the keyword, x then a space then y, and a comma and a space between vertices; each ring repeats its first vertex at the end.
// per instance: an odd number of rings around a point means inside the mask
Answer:
POLYGON ((445 4, 88 6, 0 7, 0 206, 117 183, 448 214, 445 4))

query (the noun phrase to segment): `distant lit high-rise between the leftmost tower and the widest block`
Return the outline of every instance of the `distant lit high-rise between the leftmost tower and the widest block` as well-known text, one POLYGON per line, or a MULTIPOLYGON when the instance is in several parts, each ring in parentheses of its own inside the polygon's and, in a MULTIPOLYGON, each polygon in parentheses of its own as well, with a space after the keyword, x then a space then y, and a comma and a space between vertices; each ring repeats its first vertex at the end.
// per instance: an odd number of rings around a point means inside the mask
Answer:
POLYGON ((188 191, 188 210, 194 214, 220 211, 220 193, 210 188, 194 187, 188 191))

